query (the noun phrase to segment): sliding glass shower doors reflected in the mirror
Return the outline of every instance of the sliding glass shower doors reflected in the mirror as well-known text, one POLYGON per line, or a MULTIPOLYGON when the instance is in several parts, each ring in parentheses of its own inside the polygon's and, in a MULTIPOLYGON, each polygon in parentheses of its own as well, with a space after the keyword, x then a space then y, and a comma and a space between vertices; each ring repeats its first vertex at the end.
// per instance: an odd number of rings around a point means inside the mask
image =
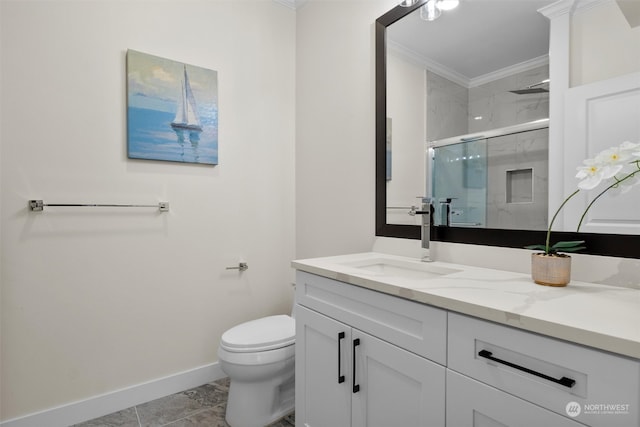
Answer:
POLYGON ((546 230, 548 141, 544 127, 434 144, 434 225, 546 230))

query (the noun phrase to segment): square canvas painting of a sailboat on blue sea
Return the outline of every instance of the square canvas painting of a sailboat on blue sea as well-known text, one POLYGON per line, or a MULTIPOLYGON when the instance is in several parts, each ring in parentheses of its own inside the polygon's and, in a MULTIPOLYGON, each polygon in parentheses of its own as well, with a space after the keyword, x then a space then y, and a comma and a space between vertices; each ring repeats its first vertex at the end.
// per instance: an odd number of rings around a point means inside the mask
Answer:
POLYGON ((218 164, 218 73, 129 49, 127 152, 218 164))

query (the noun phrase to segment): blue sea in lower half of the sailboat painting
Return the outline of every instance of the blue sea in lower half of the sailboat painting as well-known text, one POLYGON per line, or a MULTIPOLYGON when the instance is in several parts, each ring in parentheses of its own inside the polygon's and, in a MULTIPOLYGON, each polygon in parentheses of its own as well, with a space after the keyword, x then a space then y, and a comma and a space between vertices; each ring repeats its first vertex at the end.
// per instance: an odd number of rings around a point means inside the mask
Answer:
POLYGON ((189 131, 171 127, 175 112, 129 106, 127 108, 129 157, 218 164, 216 113, 214 111, 202 115, 202 131, 189 131))

